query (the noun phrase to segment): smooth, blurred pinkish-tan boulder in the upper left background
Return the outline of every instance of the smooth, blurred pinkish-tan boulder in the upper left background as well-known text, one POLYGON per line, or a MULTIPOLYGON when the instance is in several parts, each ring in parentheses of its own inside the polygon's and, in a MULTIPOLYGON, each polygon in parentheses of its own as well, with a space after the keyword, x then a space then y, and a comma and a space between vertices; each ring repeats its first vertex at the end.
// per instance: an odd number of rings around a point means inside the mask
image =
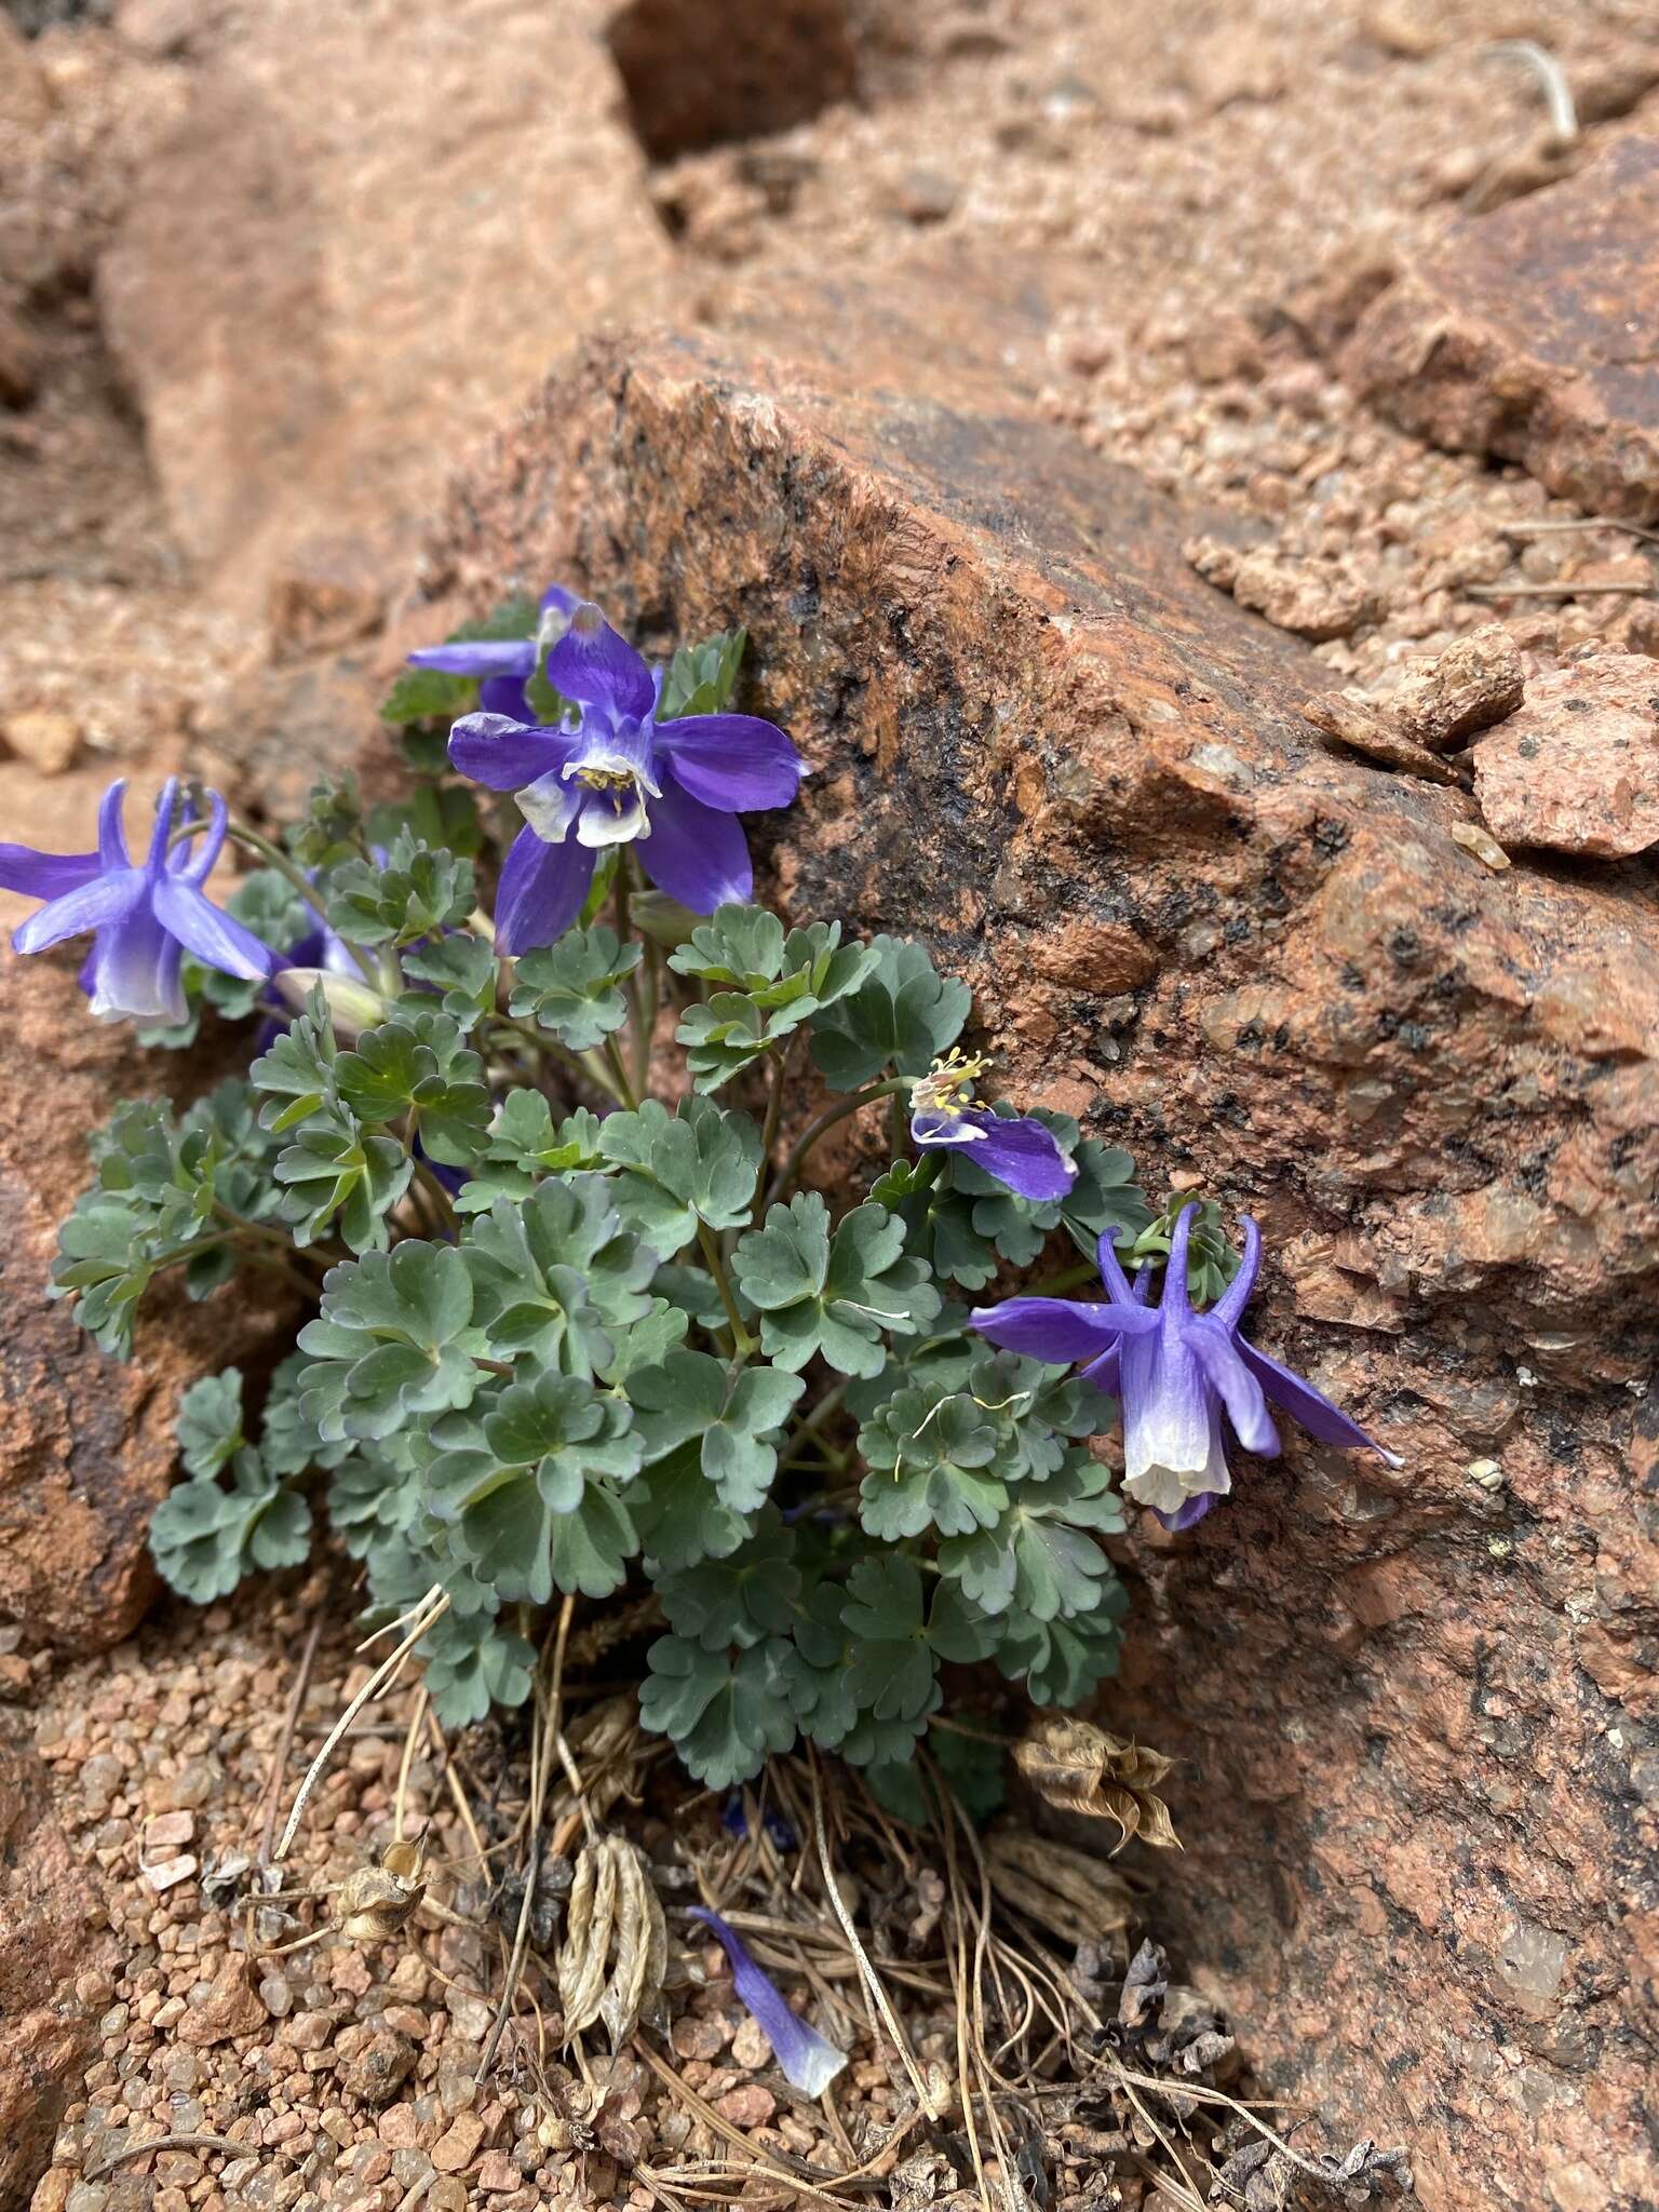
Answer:
POLYGON ((564 334, 661 299, 606 15, 177 9, 204 60, 97 294, 168 522, 279 628, 319 540, 394 575, 398 526, 564 334))

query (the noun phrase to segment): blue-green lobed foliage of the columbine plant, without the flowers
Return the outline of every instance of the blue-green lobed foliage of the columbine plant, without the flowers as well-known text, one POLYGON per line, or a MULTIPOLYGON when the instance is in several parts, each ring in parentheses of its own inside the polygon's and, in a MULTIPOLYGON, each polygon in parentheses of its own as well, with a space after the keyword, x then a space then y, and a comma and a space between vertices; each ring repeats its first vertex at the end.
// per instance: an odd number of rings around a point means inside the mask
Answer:
MULTIPOLYGON (((489 635, 533 626, 520 604, 489 635)), ((732 633, 681 653, 664 712, 721 706, 741 650, 732 633)), ((418 734, 473 692, 409 675, 387 719, 418 734)), ((1077 1166, 1064 1201, 905 1144, 832 1206, 801 1188, 823 1086, 832 1108, 872 1088, 863 1130, 885 1141, 967 989, 922 945, 757 907, 664 945, 661 900, 644 936, 622 933, 626 900, 617 927, 591 902, 507 962, 476 911, 476 838, 438 843, 447 818, 436 783, 376 827, 347 785, 314 796, 288 841, 303 878, 252 878, 243 911, 290 936, 327 918, 349 993, 321 975, 248 1082, 181 1115, 119 1108, 64 1223, 53 1294, 119 1356, 175 1270, 192 1296, 259 1263, 314 1290, 254 1402, 237 1369, 186 1394, 161 1573, 223 1597, 299 1564, 316 1509, 383 1617, 447 1593, 425 1644, 447 1723, 529 1697, 562 1597, 644 1584, 664 1621, 644 1723, 703 1783, 810 1739, 922 1818, 929 1739, 982 1809, 995 1754, 933 1725, 942 1670, 993 1661, 1040 1703, 1086 1697, 1117 1655, 1121 1509, 1088 1451, 1110 1400, 989 1349, 958 1296, 1071 1270, 1104 1230, 1157 1259, 1168 1217, 1062 1115, 1044 1119, 1077 1166), (672 1026, 684 1073, 635 1099, 670 995, 657 1066, 672 1026)), ((246 987, 192 989, 254 1011, 246 987)), ((1228 1259, 1194 1239, 1194 1290, 1228 1259)))

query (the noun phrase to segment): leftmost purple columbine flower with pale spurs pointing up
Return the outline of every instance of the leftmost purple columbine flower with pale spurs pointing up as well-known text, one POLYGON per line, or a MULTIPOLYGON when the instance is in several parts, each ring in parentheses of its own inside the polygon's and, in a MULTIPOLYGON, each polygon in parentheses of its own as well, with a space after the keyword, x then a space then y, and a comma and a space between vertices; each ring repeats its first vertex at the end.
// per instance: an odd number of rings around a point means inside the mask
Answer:
POLYGON ((276 967, 276 953, 252 929, 201 896, 201 885, 226 843, 226 803, 208 792, 210 821, 190 821, 179 807, 179 779, 170 776, 155 803, 155 836, 142 867, 133 867, 122 836, 122 794, 111 783, 97 810, 97 852, 33 852, 0 845, 0 889, 44 898, 13 936, 20 953, 44 953, 49 945, 93 931, 93 951, 82 969, 82 989, 100 1022, 184 1022, 188 1006, 179 964, 195 953, 226 975, 259 982, 276 967), (190 823, 173 845, 173 830, 190 823), (197 836, 201 847, 192 854, 197 836))

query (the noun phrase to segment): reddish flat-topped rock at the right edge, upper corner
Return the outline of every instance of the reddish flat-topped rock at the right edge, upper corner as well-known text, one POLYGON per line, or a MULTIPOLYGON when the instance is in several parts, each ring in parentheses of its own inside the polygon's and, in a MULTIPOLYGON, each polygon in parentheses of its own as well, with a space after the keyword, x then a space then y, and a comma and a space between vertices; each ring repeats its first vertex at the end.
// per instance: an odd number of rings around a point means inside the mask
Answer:
POLYGON ((1455 223, 1360 316, 1343 372, 1391 420, 1659 518, 1659 139, 1455 223))

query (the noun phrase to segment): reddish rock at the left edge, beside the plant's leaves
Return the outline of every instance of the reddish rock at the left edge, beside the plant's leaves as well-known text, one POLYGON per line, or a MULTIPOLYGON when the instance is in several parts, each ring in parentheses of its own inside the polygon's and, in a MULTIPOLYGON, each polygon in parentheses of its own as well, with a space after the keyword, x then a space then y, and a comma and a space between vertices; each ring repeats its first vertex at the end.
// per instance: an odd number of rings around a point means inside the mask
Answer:
POLYGON ((100 1648, 155 1590, 146 1533, 175 1471, 179 1394, 257 1352, 270 1316, 223 1292, 164 1298, 139 1356, 119 1363, 46 1303, 58 1223, 91 1181, 86 1137, 186 1068, 91 1022, 62 956, 0 949, 0 1619, 100 1648))

